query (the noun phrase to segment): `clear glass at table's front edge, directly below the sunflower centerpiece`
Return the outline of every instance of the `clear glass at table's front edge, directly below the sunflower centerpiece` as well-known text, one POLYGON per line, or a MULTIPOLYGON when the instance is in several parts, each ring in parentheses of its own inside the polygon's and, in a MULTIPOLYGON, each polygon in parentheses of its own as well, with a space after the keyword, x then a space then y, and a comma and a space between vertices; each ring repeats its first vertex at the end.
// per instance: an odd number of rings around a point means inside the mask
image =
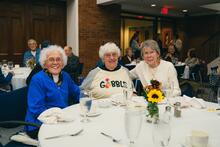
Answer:
POLYGON ((157 124, 153 126, 153 142, 156 147, 167 147, 171 138, 170 124, 159 120, 157 124))

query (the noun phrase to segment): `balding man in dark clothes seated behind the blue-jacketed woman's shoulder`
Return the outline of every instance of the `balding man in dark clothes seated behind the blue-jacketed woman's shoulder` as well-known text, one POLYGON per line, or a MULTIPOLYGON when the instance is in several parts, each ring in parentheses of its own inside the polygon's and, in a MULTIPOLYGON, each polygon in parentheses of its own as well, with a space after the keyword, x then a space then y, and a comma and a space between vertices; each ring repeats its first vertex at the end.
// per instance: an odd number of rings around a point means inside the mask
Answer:
POLYGON ((79 57, 73 54, 72 47, 65 46, 64 52, 67 56, 67 65, 64 67, 64 70, 68 72, 75 83, 78 82, 78 67, 79 67, 79 57))

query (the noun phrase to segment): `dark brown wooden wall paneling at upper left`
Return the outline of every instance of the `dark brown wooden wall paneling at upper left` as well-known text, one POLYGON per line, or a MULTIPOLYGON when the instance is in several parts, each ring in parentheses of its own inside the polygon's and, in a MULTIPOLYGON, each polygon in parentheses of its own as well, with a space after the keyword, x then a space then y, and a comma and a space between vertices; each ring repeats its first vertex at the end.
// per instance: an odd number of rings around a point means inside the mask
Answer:
POLYGON ((0 61, 22 63, 27 40, 66 43, 66 2, 0 0, 0 61))

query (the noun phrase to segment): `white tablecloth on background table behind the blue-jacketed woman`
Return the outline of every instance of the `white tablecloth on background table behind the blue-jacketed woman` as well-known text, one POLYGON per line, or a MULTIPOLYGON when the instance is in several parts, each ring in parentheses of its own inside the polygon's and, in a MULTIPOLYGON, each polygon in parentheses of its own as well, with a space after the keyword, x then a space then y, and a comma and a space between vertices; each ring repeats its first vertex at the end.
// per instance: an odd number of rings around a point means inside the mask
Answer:
POLYGON ((31 69, 26 67, 19 67, 19 68, 14 68, 13 71, 15 74, 11 80, 13 90, 25 87, 26 79, 30 74, 31 69))

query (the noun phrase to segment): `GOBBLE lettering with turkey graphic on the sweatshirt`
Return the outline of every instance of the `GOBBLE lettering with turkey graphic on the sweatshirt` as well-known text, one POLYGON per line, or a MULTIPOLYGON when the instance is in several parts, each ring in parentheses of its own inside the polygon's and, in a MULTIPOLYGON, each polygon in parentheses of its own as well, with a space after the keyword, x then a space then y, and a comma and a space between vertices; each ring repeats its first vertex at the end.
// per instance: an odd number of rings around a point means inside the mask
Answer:
POLYGON ((110 80, 105 78, 105 80, 100 82, 100 88, 111 88, 111 87, 122 87, 127 88, 127 82, 120 80, 110 80))

